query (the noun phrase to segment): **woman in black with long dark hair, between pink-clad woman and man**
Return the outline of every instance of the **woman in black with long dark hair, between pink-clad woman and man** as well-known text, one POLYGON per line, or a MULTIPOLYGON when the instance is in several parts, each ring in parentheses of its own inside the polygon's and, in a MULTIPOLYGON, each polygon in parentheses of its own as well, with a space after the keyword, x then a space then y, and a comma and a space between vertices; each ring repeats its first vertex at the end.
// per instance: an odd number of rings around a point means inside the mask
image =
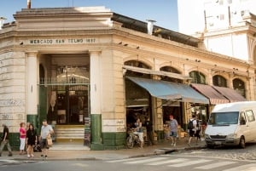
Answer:
POLYGON ((33 148, 38 142, 37 132, 34 129, 34 125, 31 123, 29 129, 26 131, 26 145, 27 145, 27 157, 34 157, 33 148))

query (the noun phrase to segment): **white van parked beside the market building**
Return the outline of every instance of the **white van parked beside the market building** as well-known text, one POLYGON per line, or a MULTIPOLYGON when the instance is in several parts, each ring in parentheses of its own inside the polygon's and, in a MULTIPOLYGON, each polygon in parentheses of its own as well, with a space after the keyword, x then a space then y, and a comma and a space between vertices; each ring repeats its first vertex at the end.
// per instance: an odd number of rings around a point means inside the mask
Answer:
POLYGON ((205 132, 207 147, 240 145, 256 140, 256 101, 215 105, 205 132))

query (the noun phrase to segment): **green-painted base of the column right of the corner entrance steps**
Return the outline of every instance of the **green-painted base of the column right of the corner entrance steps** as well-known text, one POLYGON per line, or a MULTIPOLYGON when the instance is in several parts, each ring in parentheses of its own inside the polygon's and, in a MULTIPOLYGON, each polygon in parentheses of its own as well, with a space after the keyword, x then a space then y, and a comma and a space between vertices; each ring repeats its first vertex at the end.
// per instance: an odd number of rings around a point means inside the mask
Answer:
POLYGON ((90 124, 91 124, 90 150, 102 151, 104 150, 102 145, 102 115, 91 114, 90 124))

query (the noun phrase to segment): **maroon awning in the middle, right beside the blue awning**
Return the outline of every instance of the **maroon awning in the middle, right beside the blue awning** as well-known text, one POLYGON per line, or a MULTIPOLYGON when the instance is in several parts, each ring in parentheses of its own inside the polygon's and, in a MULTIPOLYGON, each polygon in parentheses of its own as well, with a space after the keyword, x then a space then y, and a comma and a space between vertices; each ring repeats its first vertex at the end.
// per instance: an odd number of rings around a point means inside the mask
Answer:
POLYGON ((222 94, 219 94, 218 91, 212 88, 210 85, 191 83, 191 87, 205 95, 210 100, 210 104, 212 105, 230 102, 230 100, 226 99, 222 94))

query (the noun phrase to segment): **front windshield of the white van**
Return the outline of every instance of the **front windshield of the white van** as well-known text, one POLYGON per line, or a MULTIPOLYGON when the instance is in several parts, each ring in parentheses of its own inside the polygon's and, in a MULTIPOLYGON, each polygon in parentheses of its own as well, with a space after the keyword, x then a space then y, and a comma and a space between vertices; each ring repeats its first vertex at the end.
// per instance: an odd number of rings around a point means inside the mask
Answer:
POLYGON ((238 111, 216 112, 209 118, 209 125, 230 125, 238 123, 238 111))

